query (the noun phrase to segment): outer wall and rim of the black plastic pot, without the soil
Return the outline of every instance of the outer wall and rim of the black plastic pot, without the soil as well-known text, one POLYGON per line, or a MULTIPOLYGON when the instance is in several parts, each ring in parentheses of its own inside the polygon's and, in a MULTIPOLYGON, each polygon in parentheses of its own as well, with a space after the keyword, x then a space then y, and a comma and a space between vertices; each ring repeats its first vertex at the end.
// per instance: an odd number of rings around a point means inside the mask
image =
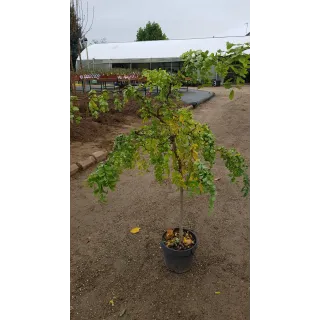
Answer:
MULTIPOLYGON (((178 228, 175 229, 174 231, 176 230, 178 230, 178 228)), ((174 249, 168 248, 164 244, 165 235, 167 232, 163 234, 162 241, 161 241, 161 248, 163 250, 164 261, 166 263, 166 266, 170 271, 173 271, 175 273, 184 273, 191 269, 193 256, 198 247, 198 239, 195 233, 187 229, 183 229, 183 230, 188 231, 194 236, 195 244, 192 248, 187 250, 174 250, 174 249)))

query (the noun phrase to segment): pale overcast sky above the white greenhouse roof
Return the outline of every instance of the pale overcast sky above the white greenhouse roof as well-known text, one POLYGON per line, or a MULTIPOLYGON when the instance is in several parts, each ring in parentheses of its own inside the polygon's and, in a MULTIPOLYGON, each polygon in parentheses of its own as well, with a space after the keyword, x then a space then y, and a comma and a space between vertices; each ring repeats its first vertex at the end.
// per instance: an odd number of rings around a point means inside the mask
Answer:
MULTIPOLYGON (((135 41, 139 27, 150 20, 160 24, 169 39, 244 35, 250 0, 82 0, 94 20, 88 41, 135 41)), ((86 10, 84 10, 86 11, 86 10)))

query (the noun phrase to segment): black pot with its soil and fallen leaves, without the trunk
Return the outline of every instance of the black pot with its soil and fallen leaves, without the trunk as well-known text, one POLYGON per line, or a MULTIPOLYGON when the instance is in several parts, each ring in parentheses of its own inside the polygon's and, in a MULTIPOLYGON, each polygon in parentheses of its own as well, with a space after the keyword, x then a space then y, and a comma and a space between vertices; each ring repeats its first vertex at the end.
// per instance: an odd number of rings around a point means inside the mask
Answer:
POLYGON ((196 235, 183 229, 183 243, 179 241, 179 229, 166 231, 162 236, 161 248, 167 268, 176 273, 184 273, 191 269, 193 256, 198 246, 196 235))

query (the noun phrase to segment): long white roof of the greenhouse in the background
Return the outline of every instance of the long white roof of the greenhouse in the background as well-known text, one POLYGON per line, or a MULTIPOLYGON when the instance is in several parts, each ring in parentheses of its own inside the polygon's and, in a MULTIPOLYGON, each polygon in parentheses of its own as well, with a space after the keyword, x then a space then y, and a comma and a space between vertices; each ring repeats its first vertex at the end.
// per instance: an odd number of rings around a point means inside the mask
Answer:
MULTIPOLYGON (((123 43, 94 44, 88 47, 89 60, 141 60, 179 58, 189 50, 226 50, 226 43, 243 44, 250 37, 215 37, 187 40, 158 40, 123 43)), ((87 59, 86 50, 81 53, 82 60, 87 59)), ((79 59, 79 58, 78 58, 79 59)))

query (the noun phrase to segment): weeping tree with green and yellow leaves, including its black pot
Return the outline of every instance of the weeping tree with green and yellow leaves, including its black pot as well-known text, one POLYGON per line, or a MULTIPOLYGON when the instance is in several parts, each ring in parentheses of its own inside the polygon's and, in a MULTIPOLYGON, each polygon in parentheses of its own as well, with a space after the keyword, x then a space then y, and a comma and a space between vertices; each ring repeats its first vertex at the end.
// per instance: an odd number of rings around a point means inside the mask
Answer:
POLYGON ((143 76, 146 83, 141 86, 146 86, 150 92, 158 87, 159 94, 144 95, 141 87, 129 86, 123 92, 123 101, 138 101, 146 124, 115 139, 113 151, 88 177, 88 183, 102 201, 106 200, 109 190, 115 189, 125 169, 148 171, 153 167, 159 183, 167 179, 175 185, 180 192, 179 226, 162 235, 161 247, 168 269, 183 273, 190 269, 198 245, 196 234, 183 228, 185 192, 209 194, 209 208, 213 209, 216 188, 212 168, 216 157, 220 156, 231 181, 242 179, 242 192, 246 196, 248 166, 236 150, 216 144, 208 125, 195 121, 191 111, 178 106, 179 89, 184 80, 181 73, 170 75, 164 70, 146 70, 143 76))

